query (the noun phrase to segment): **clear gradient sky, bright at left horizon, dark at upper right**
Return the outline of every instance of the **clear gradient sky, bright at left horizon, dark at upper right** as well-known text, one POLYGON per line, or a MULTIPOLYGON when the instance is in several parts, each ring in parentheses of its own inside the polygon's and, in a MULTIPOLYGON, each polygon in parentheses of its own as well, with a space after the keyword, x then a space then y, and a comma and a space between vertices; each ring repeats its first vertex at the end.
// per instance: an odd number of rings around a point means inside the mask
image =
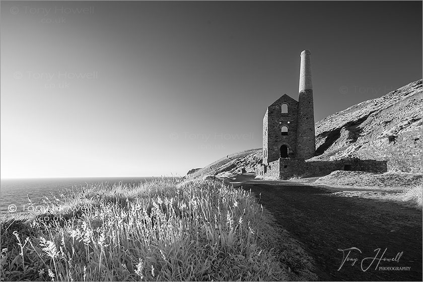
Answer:
POLYGON ((2 1, 0 176, 183 176, 422 78, 421 2, 2 1))

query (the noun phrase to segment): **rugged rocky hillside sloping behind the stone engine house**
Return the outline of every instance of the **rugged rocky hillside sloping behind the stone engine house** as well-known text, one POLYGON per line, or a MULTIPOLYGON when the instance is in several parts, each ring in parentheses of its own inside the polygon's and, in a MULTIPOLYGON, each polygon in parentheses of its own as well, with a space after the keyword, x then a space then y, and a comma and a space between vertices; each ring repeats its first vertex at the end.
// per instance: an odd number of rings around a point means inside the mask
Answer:
MULTIPOLYGON (((422 80, 380 98, 364 101, 316 123, 316 157, 387 161, 389 171, 422 173, 422 80)), ((261 149, 228 155, 191 176, 254 172, 261 149)))

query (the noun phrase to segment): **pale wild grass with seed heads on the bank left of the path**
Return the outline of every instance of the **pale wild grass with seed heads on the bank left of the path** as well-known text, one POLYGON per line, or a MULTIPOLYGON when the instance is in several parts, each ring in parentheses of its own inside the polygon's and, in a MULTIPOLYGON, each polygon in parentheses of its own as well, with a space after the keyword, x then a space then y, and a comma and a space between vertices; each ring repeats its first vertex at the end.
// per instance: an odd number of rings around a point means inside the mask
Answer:
POLYGON ((287 280, 254 199, 216 180, 75 188, 2 219, 1 280, 287 280))

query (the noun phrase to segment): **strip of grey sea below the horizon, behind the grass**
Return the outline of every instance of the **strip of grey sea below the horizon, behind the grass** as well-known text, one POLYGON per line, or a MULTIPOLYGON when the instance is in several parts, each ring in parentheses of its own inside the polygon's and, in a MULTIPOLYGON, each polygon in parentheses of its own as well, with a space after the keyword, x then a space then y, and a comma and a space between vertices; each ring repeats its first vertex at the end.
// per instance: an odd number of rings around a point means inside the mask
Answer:
MULTIPOLYGON (((28 213, 31 207, 28 197, 36 206, 44 196, 52 198, 50 192, 60 199, 59 195, 64 189, 80 188, 87 184, 119 183, 138 184, 161 177, 91 177, 91 178, 36 178, 36 179, 2 179, 0 180, 0 211, 6 213, 28 213)), ((52 199, 51 199, 52 200, 52 199)))

